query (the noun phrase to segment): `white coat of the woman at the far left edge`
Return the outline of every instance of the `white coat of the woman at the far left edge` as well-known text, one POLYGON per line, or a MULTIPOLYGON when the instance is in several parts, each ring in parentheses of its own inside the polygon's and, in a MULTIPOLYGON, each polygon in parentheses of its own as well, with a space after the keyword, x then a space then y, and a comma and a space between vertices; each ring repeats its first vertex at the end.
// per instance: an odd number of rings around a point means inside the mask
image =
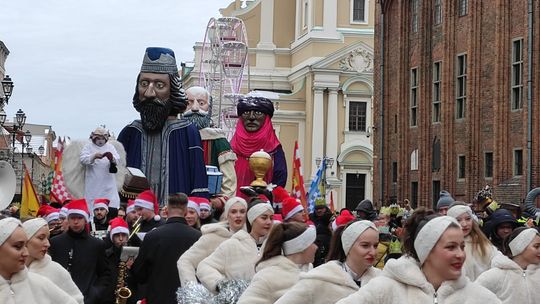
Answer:
POLYGON ((14 274, 10 281, 0 276, 0 303, 77 304, 77 301, 49 279, 24 268, 14 274))

